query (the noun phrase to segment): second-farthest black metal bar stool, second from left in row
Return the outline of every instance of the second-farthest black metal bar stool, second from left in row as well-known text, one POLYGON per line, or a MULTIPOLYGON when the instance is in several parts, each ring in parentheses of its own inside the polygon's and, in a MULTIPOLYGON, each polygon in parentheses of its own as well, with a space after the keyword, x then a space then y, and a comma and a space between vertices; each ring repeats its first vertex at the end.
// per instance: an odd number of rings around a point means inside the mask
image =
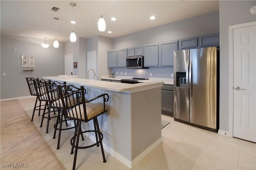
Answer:
POLYGON ((48 82, 45 80, 38 80, 38 81, 33 80, 33 83, 34 83, 34 88, 36 89, 36 95, 38 100, 40 102, 42 101, 45 102, 44 113, 42 115, 40 127, 42 127, 43 125, 44 118, 47 118, 46 133, 48 133, 50 119, 53 117, 58 117, 58 115, 56 115, 55 109, 51 110, 51 108, 49 107, 49 100, 48 100, 48 94, 47 94, 48 86, 46 85, 48 82), (50 113, 54 113, 54 115, 51 116, 50 113), (46 117, 46 114, 47 114, 47 117, 46 117))

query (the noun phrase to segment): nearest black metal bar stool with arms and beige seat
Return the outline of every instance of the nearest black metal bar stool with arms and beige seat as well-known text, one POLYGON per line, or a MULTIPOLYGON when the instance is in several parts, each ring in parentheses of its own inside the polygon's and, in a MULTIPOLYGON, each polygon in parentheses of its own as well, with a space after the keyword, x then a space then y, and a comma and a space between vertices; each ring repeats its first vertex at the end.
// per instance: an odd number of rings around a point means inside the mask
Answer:
POLYGON ((62 100, 64 113, 66 117, 68 119, 73 119, 77 121, 74 137, 72 137, 72 139, 70 140, 70 144, 72 146, 70 154, 74 153, 74 148, 75 148, 73 170, 75 170, 76 168, 76 157, 77 157, 78 149, 86 149, 96 145, 97 147, 99 147, 100 145, 103 162, 106 162, 104 149, 102 145, 103 134, 100 132, 97 117, 105 113, 106 111, 108 111, 108 107, 106 107, 105 105, 105 102, 107 102, 109 99, 108 94, 101 94, 100 96, 92 98, 91 100, 85 100, 84 95, 86 94, 86 90, 84 89, 84 86, 80 86, 80 88, 77 88, 73 85, 70 85, 64 89, 61 89, 61 86, 58 86, 58 90, 59 90, 60 98, 62 100), (80 102, 80 99, 82 99, 82 103, 80 102), (98 100, 102 99, 102 102, 90 103, 92 101, 95 101, 96 99, 98 100), (82 131, 81 123, 88 122, 90 120, 93 120, 94 130, 82 131), (79 142, 80 134, 88 133, 88 132, 95 133, 96 143, 85 146, 85 147, 79 147, 78 142, 79 142))

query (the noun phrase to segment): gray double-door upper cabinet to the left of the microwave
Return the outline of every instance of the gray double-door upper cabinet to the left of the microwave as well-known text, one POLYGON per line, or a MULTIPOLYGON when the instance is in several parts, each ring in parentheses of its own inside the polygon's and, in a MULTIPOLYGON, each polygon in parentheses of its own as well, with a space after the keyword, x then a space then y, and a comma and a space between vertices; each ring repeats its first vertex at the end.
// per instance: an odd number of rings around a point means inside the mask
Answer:
POLYGON ((126 67, 127 49, 108 51, 108 68, 126 67))

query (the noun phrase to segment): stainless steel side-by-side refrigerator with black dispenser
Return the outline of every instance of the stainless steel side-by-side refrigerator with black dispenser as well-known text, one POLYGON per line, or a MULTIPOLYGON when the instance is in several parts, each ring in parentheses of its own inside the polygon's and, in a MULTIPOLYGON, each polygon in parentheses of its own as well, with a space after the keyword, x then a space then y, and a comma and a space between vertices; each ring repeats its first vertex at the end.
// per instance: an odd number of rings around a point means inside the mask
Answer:
POLYGON ((219 126, 219 48, 174 51, 174 120, 219 126))

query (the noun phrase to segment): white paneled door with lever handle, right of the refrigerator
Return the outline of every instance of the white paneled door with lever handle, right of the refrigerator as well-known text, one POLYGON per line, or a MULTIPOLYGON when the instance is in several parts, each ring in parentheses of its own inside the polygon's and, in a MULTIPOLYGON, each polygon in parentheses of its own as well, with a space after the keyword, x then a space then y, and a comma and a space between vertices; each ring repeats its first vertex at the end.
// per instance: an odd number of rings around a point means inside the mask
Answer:
POLYGON ((256 25, 233 33, 233 136, 256 142, 256 25))

